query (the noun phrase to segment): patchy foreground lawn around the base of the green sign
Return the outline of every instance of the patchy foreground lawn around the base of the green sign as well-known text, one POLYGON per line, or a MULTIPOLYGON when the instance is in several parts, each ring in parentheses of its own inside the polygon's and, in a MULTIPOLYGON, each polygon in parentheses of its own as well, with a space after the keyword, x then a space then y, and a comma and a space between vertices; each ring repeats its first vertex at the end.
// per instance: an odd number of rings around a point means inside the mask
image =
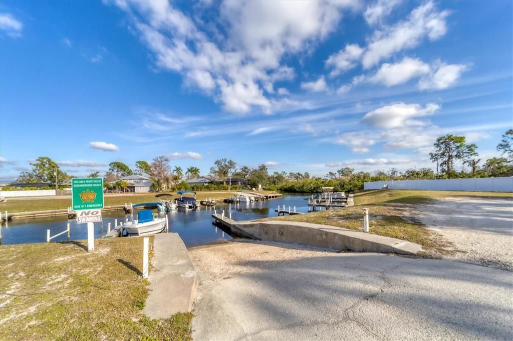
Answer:
POLYGON ((0 339, 189 340, 192 313, 142 314, 143 240, 0 246, 0 339))

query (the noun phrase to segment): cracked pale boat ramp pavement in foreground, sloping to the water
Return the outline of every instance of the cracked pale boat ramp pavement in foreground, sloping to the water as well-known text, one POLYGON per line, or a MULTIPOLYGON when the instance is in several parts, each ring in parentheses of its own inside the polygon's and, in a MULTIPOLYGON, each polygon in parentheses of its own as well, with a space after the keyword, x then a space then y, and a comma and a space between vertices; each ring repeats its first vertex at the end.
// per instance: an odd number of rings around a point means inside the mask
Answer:
POLYGON ((195 340, 513 338, 509 271, 256 241, 189 252, 195 340))

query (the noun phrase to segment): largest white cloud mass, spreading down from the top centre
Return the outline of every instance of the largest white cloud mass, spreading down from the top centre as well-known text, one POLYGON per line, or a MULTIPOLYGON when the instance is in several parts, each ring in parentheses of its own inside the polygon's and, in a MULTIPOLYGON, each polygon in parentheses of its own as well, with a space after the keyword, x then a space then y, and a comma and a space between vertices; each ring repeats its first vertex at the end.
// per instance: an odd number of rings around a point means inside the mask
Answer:
MULTIPOLYGON (((109 3, 110 4, 110 3, 109 3)), ((220 101, 226 111, 271 113, 273 83, 295 72, 282 65, 284 54, 309 50, 337 28, 353 2, 224 2, 219 7, 224 30, 214 38, 203 32, 217 22, 196 22, 173 4, 125 2, 134 31, 153 53, 157 67, 182 74, 186 84, 220 101), (215 40, 213 40, 215 39, 215 40)))

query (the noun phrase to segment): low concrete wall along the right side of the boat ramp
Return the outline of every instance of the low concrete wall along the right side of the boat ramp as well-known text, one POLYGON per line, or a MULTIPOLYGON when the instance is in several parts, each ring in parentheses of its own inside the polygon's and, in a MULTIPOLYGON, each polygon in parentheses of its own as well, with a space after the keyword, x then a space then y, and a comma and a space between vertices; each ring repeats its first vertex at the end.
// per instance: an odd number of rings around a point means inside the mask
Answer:
POLYGON ((368 252, 417 254, 422 247, 404 240, 334 226, 288 221, 234 221, 212 215, 244 238, 368 252))

